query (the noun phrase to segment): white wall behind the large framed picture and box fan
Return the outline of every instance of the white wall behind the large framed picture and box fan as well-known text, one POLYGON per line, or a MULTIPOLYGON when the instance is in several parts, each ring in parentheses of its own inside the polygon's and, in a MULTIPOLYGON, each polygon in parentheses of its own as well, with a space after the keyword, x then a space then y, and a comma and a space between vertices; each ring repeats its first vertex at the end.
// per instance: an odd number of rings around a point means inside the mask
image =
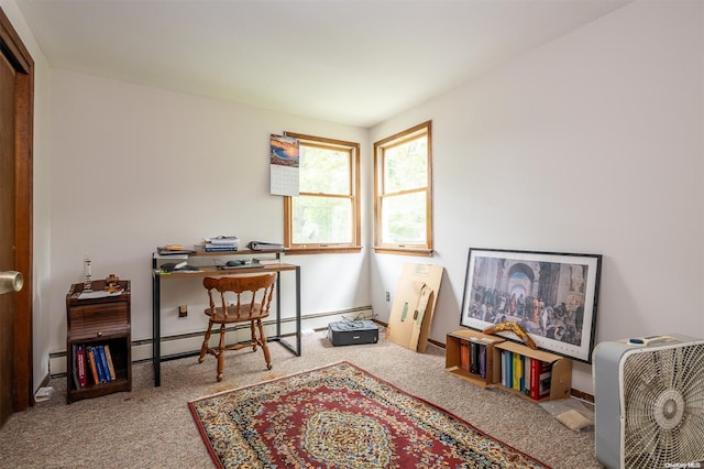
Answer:
MULTIPOLYGON (((432 119, 431 338, 459 328, 471 247, 603 254, 597 341, 704 337, 703 45, 704 3, 636 2, 372 130, 432 119)), ((399 269, 373 259, 382 318, 399 269)))

